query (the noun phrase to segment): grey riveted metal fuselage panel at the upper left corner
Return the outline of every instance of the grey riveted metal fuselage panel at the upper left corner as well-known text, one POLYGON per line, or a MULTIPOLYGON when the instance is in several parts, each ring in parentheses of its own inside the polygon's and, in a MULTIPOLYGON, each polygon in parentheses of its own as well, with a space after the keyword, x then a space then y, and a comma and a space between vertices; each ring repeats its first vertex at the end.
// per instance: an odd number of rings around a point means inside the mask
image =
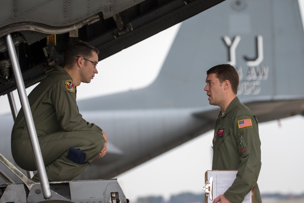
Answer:
POLYGON ((142 1, 6 0, 0 13, 0 37, 21 30, 50 34, 69 32, 90 21, 96 22, 99 16, 109 18, 114 15, 114 11, 121 12, 142 1))

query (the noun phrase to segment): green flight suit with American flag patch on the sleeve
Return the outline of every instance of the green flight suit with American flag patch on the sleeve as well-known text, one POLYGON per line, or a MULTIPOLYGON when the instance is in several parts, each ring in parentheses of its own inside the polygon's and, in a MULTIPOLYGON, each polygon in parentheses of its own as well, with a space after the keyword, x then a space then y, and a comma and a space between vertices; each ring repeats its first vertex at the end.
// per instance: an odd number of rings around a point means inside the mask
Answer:
POLYGON ((261 141, 257 118, 236 97, 214 127, 212 170, 238 170, 231 187, 224 193, 234 203, 241 203, 255 187, 255 202, 261 203, 257 179, 261 170, 261 141))

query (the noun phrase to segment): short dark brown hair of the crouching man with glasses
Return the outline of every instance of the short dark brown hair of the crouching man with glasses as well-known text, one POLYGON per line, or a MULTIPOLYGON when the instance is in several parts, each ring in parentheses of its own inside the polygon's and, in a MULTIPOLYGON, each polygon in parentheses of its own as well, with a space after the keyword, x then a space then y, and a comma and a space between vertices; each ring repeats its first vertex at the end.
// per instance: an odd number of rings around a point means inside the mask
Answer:
POLYGON ((64 48, 63 54, 63 65, 67 69, 71 69, 75 63, 77 63, 77 57, 81 56, 83 58, 90 58, 93 55, 93 52, 99 54, 99 50, 92 45, 81 41, 73 40, 69 41, 64 48))

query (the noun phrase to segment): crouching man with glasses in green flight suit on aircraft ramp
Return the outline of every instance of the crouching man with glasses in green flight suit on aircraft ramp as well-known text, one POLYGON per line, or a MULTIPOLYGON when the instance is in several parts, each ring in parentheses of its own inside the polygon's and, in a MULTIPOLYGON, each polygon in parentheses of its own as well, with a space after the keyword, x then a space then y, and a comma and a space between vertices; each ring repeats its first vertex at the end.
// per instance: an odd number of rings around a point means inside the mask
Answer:
MULTIPOLYGON (((98 73, 98 53, 81 40, 68 42, 63 68, 56 66, 28 96, 49 181, 72 180, 107 152, 106 133, 85 121, 76 104, 76 87, 98 73)), ((18 166, 37 170, 22 109, 12 129, 11 147, 18 166)), ((32 180, 39 182, 38 174, 32 180)))

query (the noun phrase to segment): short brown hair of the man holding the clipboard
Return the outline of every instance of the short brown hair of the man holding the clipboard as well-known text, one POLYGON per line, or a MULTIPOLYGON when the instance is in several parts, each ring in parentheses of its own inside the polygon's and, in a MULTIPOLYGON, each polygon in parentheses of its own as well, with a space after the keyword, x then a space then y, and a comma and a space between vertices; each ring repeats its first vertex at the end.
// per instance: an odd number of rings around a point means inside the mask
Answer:
POLYGON ((222 83, 225 80, 229 80, 231 89, 234 94, 237 94, 237 87, 239 86, 240 78, 237 70, 230 64, 216 65, 207 71, 207 75, 215 73, 219 82, 222 83))

